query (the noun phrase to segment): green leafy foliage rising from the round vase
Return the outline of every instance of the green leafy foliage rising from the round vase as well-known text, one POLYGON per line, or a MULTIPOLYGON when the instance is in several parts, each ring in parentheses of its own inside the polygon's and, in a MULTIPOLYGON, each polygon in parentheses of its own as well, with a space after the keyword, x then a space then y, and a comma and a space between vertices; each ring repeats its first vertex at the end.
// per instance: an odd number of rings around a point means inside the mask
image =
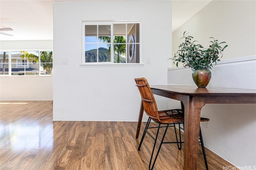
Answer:
POLYGON ((197 41, 193 41, 193 37, 188 35, 186 31, 183 33, 184 39, 183 43, 179 45, 179 49, 177 53, 175 53, 172 60, 174 60, 174 64, 178 66, 178 63, 183 63, 184 67, 191 67, 192 70, 196 70, 198 68, 207 68, 212 69, 212 63, 216 64, 216 61, 220 61, 222 58, 222 51, 228 47, 225 45, 223 48, 220 46, 222 43, 218 43, 217 39, 210 37, 212 41, 210 41, 211 45, 208 49, 204 48, 200 44, 196 44, 197 41))

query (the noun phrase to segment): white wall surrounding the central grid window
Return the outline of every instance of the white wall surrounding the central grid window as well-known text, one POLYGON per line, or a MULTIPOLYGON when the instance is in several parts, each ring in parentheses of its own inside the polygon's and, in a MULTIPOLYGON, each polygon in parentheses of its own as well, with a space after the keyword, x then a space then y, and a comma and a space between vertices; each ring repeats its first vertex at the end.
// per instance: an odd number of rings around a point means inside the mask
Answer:
MULTIPOLYGON (((144 76, 150 84, 167 84, 171 9, 171 1, 164 0, 55 2, 53 119, 137 121, 140 94, 134 78, 144 76), (82 21, 113 20, 142 20, 144 65, 80 66, 82 21), (60 64, 62 58, 69 63, 60 64)), ((166 108, 166 99, 158 99, 159 107, 166 108)))

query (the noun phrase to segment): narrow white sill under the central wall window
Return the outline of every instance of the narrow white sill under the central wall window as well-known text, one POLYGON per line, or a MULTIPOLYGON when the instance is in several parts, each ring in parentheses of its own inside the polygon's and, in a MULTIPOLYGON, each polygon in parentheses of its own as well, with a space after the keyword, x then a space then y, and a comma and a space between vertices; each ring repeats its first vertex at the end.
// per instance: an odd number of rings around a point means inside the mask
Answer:
POLYGON ((141 63, 90 63, 90 64, 80 64, 80 67, 143 67, 144 64, 141 63))

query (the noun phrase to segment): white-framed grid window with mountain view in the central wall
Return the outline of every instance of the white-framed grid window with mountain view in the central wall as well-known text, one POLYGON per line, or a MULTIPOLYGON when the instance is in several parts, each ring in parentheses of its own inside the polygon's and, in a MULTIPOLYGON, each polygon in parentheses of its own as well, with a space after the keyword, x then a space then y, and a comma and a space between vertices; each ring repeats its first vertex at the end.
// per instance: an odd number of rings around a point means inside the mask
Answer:
POLYGON ((141 63, 141 21, 83 22, 82 64, 141 63))

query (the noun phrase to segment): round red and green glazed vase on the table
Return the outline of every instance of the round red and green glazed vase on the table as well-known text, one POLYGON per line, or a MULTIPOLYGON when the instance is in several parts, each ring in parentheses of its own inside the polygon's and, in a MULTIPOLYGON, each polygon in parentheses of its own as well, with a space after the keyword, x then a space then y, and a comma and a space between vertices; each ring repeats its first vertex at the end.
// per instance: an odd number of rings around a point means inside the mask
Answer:
POLYGON ((198 87, 206 87, 210 82, 212 73, 207 68, 196 69, 192 72, 192 78, 198 87))

